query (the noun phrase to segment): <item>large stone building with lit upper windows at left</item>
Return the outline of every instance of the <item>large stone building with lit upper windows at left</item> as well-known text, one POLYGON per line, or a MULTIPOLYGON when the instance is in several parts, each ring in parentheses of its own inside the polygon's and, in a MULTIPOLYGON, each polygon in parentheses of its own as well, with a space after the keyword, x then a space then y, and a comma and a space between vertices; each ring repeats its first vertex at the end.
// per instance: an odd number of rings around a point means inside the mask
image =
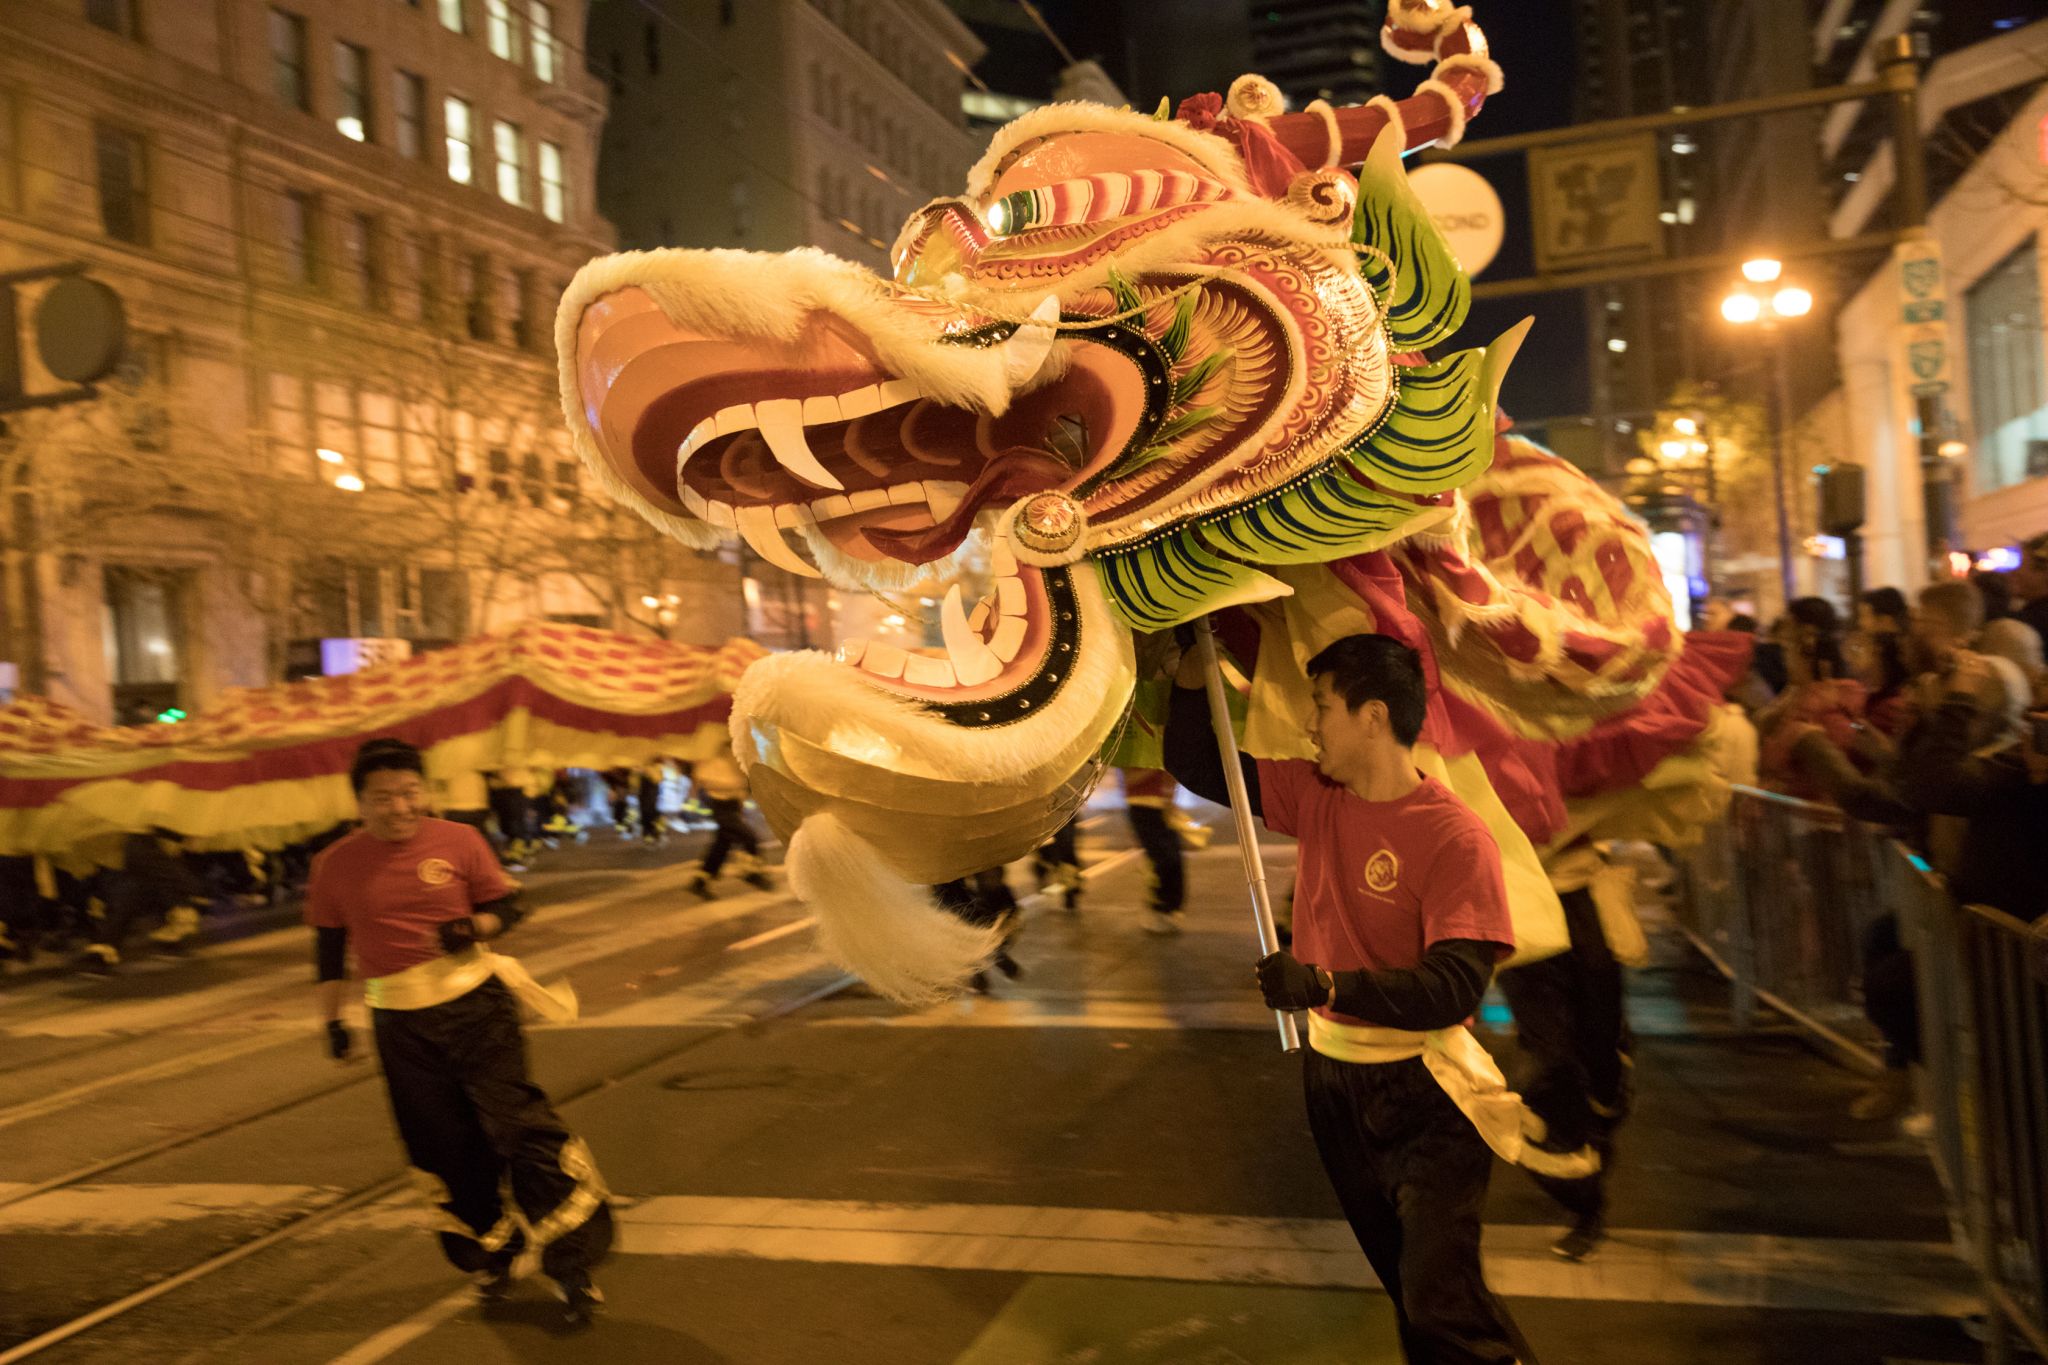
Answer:
POLYGON ((555 299, 612 239, 584 10, 0 6, 0 270, 78 264, 129 319, 94 401, 0 436, 31 688, 190 708, 322 639, 625 626, 659 587, 555 397, 555 299))

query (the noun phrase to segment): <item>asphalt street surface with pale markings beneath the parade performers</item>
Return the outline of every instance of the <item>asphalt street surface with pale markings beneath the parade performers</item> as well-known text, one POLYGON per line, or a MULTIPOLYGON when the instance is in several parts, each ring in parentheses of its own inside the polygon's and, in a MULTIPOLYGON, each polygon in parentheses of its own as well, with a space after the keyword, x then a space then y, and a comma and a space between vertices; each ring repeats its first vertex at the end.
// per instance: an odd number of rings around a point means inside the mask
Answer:
MULTIPOLYGON (((1184 935, 1143 931, 1145 866, 1096 814, 1079 913, 1028 902, 1024 976, 918 1015, 827 966, 780 880, 696 902, 676 845, 608 835, 543 864, 508 948, 582 997, 532 1031, 537 1070, 621 1207, 582 1336, 545 1281, 481 1310, 438 1259, 375 1062, 319 1048, 303 929, 14 980, 0 1361, 1397 1361, 1206 819, 1184 935)), ((1284 888, 1292 845, 1268 851, 1284 888)), ((1554 1209, 1495 1166, 1489 1273, 1542 1359, 1978 1359, 1917 1144, 1847 1119, 1853 1074, 1735 1036, 1718 978, 1659 954, 1612 1240, 1552 1259, 1554 1209)), ((1485 1023, 1511 1072, 1505 1011, 1485 1023)))

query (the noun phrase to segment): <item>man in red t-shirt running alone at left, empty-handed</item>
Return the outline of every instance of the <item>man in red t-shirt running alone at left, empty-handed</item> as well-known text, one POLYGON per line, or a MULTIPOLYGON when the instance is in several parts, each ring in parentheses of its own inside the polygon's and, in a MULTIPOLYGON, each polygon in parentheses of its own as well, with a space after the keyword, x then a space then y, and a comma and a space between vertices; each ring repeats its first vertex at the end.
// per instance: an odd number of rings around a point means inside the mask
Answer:
POLYGON ((352 1050, 340 1019, 352 948, 442 1252, 477 1275, 483 1300, 547 1273, 565 1322, 584 1326, 602 1304, 590 1271, 610 1248, 612 1212, 590 1150, 532 1083, 520 1029, 522 1005, 573 1019, 575 997, 485 948, 520 921, 518 884, 483 835, 426 814, 424 774, 410 743, 365 743, 348 772, 362 827, 313 860, 305 919, 328 1050, 336 1060, 352 1050))

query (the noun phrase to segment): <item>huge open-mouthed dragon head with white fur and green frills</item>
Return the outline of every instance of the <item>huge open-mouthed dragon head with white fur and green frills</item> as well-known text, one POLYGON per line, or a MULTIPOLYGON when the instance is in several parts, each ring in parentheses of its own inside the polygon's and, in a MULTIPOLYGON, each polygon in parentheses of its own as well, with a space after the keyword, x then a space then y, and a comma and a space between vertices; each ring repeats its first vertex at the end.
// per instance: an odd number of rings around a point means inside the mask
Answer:
POLYGON ((659 250, 569 287, 571 434, 655 526, 844 585, 987 575, 973 606, 946 591, 944 649, 776 655, 735 694, 793 884, 885 993, 987 952, 909 886, 1071 817, 1135 630, 1284 593, 1262 565, 1430 530, 1491 460, 1513 346, 1421 358, 1468 282, 1401 156, 1454 141, 1499 72, 1464 10, 1393 10, 1386 49, 1436 63, 1413 98, 1288 115, 1247 76, 1178 119, 1034 111, 905 223, 889 278, 659 250))

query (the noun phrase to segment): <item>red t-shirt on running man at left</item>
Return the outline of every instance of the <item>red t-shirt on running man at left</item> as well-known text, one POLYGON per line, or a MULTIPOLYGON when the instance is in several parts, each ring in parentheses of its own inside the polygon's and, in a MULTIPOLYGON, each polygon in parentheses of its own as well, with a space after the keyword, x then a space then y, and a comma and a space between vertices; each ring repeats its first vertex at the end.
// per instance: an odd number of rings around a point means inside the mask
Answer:
POLYGON ((305 923, 348 929, 358 974, 389 976, 438 958, 442 923, 514 890, 469 825, 428 819, 406 843, 358 829, 313 857, 305 923))

